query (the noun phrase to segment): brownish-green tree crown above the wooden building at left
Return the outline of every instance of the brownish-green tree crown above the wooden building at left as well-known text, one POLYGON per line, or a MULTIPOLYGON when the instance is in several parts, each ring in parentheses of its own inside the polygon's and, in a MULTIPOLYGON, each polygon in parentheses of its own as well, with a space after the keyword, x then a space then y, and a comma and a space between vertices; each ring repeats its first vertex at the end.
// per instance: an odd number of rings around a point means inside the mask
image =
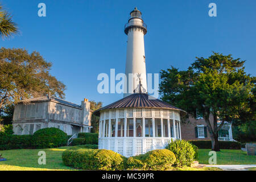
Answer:
POLYGON ((50 75, 52 64, 39 52, 25 49, 0 49, 0 110, 20 99, 46 96, 63 98, 65 85, 50 75))

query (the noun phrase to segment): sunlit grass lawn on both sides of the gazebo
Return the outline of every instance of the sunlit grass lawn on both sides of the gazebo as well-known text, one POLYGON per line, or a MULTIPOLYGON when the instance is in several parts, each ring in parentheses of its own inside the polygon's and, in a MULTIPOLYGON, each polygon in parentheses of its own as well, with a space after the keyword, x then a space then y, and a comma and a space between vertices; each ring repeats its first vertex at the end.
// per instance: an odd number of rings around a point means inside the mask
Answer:
MULTIPOLYGON (((0 151, 0 154, 7 161, 0 162, 0 171, 40 171, 40 170, 76 170, 64 166, 61 155, 63 151, 70 148, 86 148, 85 146, 45 148, 45 149, 18 149, 0 151), (46 165, 38 164, 38 152, 46 152, 46 165)), ((199 163, 208 164, 209 149, 199 149, 199 163)), ((246 152, 241 150, 221 150, 217 152, 217 164, 256 164, 256 156, 247 156, 246 152)), ((219 168, 174 168, 175 171, 217 171, 219 168)), ((251 169, 251 170, 255 170, 251 169)))

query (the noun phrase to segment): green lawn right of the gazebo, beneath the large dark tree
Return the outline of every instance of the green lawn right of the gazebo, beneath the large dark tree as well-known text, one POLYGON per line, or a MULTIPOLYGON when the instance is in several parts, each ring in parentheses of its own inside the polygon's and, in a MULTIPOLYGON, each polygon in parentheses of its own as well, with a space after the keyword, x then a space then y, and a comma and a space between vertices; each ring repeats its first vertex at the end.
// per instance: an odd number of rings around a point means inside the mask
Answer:
MULTIPOLYGON (((199 149, 199 163, 209 164, 210 149, 199 149)), ((217 164, 256 164, 256 156, 247 155, 242 150, 221 150, 217 152, 217 164)))

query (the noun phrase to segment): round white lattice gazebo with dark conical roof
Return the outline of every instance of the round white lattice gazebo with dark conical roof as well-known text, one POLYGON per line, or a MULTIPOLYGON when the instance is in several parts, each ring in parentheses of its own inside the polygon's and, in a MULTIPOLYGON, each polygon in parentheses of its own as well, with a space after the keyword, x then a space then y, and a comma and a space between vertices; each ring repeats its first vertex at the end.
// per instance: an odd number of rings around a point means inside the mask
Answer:
POLYGON ((94 112, 100 115, 98 146, 129 157, 181 139, 180 113, 161 100, 134 93, 94 112))

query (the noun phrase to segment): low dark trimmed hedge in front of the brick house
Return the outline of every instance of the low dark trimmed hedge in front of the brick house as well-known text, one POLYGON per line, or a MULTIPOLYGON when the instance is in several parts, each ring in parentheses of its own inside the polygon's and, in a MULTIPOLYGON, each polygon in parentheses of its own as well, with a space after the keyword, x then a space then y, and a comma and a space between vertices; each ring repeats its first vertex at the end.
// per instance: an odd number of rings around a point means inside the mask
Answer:
MULTIPOLYGON (((192 144, 195 144, 198 148, 212 148, 212 142, 210 140, 189 140, 192 144)), ((218 141, 220 149, 241 149, 240 142, 234 141, 218 141)))

